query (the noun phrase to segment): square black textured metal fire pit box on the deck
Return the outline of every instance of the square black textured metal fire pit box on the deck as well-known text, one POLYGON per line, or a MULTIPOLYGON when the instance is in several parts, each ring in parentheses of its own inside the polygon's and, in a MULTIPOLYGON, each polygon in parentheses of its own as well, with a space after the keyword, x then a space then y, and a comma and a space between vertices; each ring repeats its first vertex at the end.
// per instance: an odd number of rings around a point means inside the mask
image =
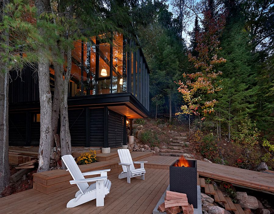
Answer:
POLYGON ((176 166, 178 162, 169 167, 170 191, 185 193, 188 203, 197 208, 197 161, 187 160, 189 167, 176 166))

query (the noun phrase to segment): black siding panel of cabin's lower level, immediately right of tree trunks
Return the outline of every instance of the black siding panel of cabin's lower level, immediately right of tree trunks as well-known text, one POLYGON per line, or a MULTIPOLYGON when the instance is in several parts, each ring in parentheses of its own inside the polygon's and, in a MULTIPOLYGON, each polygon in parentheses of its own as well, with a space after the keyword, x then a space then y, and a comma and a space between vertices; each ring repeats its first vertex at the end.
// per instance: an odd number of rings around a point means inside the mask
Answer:
POLYGON ((68 110, 69 131, 72 146, 86 146, 85 109, 68 110))

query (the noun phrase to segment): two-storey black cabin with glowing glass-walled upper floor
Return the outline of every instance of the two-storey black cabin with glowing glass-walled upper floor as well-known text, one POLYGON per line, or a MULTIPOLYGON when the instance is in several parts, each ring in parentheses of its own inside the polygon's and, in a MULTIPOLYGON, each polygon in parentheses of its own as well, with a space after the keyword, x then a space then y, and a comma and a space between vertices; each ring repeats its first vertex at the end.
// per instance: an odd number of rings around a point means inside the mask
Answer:
MULTIPOLYGON (((120 147, 131 119, 149 114, 149 68, 138 42, 115 33, 112 44, 96 37, 74 42, 68 91, 72 146, 120 147), (137 43, 137 44, 136 44, 137 43)), ((54 68, 50 66, 54 94, 54 68)), ((10 73, 9 144, 39 145, 37 68, 10 73)))

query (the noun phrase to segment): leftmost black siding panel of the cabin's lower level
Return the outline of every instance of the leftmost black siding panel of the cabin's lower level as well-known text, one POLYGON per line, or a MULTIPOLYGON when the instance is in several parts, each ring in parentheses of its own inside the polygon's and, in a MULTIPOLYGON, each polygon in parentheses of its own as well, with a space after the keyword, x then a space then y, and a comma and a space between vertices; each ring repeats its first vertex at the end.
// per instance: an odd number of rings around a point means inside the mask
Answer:
POLYGON ((9 114, 9 145, 26 144, 26 113, 9 114))

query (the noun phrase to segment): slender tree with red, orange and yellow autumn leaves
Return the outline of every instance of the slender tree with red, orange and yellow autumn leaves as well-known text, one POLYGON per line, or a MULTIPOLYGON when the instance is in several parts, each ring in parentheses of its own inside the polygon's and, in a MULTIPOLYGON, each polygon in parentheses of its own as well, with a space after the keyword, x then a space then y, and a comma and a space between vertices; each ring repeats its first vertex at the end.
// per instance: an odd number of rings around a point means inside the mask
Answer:
MULTIPOLYGON (((221 74, 216 66, 226 62, 226 59, 218 57, 220 51, 220 36, 226 21, 226 13, 214 15, 211 7, 203 11, 202 31, 195 32, 196 56, 188 54, 188 60, 192 66, 192 73, 184 73, 184 80, 178 82, 178 91, 182 94, 184 105, 177 114, 187 114, 190 126, 190 115, 198 117, 200 129, 201 122, 207 114, 214 112, 216 100, 207 100, 206 94, 212 94, 221 90, 217 76, 221 74)), ((190 128, 190 127, 189 127, 190 128)))

